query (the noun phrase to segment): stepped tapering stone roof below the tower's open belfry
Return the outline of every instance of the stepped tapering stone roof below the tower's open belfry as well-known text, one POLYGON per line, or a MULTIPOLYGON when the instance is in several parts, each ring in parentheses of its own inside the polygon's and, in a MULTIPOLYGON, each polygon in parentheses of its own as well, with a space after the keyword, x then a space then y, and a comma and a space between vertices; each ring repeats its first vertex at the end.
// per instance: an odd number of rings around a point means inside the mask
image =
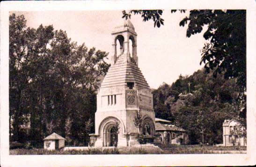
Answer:
POLYGON ((139 67, 133 61, 127 62, 123 54, 117 58, 114 65, 110 66, 101 88, 127 86, 127 82, 134 82, 134 86, 149 88, 139 67))

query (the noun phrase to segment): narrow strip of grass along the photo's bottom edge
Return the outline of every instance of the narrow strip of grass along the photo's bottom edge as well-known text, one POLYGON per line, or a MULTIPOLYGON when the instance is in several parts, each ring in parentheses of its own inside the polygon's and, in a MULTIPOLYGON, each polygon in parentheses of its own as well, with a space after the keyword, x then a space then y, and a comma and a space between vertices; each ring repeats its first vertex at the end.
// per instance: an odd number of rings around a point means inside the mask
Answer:
MULTIPOLYGON (((202 154, 203 148, 188 147, 117 147, 117 148, 90 148, 87 150, 44 150, 44 149, 12 149, 10 155, 52 155, 52 154, 202 154)), ((211 153, 246 153, 246 151, 220 149, 204 149, 205 154, 211 153)))

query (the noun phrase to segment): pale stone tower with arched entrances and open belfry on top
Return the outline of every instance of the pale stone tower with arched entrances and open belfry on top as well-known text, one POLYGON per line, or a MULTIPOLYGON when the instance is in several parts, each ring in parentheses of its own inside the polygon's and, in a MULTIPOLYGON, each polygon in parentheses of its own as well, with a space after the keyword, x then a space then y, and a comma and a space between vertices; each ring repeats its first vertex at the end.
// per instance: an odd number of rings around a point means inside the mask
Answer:
POLYGON ((153 94, 139 70, 137 34, 129 19, 112 31, 112 40, 111 66, 97 93, 95 134, 90 134, 90 140, 94 146, 132 146, 139 144, 134 124, 137 112, 142 116, 143 134, 149 139, 155 136, 153 94), (119 132, 115 133, 117 123, 119 132))

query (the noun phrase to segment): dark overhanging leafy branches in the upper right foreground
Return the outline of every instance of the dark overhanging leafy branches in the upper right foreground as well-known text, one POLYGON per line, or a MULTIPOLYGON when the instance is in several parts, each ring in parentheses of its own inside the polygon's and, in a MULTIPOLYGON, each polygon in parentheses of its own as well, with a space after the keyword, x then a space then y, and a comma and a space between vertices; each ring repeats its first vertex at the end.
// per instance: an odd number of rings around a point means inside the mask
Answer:
MULTIPOLYGON (((176 10, 171 10, 171 13, 176 10)), ((185 12, 185 10, 180 10, 185 12)), ((143 21, 154 21, 154 27, 164 25, 162 10, 130 10, 123 11, 123 18, 141 15, 143 21)), ((236 78, 241 91, 246 91, 246 11, 245 10, 190 10, 180 26, 188 24, 186 36, 190 37, 202 32, 203 26, 208 29, 204 33, 209 40, 202 49, 202 62, 206 72, 213 70, 213 76, 224 73, 225 79, 236 78)))

